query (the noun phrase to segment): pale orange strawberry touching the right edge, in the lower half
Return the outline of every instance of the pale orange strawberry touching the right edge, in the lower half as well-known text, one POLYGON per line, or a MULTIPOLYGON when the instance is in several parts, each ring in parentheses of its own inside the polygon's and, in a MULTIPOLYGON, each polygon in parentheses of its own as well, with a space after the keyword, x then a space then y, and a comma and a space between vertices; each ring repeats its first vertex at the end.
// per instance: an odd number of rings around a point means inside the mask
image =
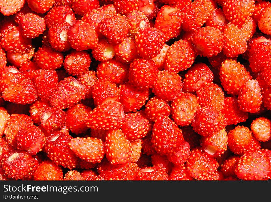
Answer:
POLYGON ((266 117, 257 117, 250 124, 253 136, 261 141, 266 142, 271 139, 271 121, 266 117))

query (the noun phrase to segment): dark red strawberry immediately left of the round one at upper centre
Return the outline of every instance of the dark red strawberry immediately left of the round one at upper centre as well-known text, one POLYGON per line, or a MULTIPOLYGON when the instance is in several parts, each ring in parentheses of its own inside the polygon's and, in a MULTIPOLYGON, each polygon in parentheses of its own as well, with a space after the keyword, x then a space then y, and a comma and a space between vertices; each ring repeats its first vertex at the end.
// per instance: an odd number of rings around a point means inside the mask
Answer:
POLYGON ((97 66, 97 77, 102 80, 110 80, 116 85, 123 84, 128 80, 129 66, 116 59, 100 62, 97 66))

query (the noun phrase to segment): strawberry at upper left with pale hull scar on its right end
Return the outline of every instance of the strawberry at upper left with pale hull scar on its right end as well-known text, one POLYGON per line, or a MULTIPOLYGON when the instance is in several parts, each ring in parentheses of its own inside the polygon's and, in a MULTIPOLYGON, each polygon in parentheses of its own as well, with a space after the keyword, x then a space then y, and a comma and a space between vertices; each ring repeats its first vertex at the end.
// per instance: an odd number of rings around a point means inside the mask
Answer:
POLYGON ((52 7, 46 14, 45 14, 45 23, 46 27, 54 27, 57 24, 68 23, 72 26, 75 23, 75 14, 71 7, 59 5, 52 7))

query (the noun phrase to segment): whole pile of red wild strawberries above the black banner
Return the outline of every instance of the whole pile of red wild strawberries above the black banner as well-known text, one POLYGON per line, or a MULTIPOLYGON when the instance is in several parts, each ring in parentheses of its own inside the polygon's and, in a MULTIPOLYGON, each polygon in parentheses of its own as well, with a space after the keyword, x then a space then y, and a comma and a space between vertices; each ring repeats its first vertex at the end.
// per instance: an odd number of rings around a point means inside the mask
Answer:
POLYGON ((0 179, 271 178, 270 1, 0 13, 0 179))

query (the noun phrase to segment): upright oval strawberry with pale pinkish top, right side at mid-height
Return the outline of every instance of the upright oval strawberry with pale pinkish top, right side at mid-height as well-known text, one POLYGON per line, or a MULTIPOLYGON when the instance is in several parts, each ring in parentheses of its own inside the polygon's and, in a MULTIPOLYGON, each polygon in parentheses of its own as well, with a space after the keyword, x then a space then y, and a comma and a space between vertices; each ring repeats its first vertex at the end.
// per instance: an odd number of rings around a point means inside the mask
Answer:
POLYGON ((256 113, 260 110, 262 95, 257 80, 245 82, 239 90, 237 102, 242 111, 256 113))

